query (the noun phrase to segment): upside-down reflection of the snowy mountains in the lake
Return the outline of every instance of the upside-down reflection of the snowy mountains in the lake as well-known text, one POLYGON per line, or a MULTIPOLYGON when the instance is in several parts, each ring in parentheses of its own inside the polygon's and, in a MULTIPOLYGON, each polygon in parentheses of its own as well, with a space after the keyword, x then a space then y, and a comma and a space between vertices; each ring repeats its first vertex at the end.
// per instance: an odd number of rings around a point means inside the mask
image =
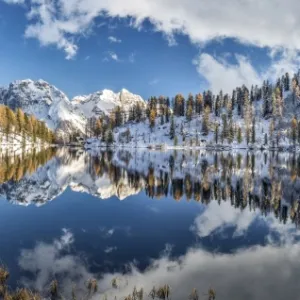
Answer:
POLYGON ((56 199, 67 187, 103 200, 114 196, 123 200, 142 189, 142 186, 131 187, 128 177, 113 184, 108 173, 95 176, 90 168, 89 154, 81 152, 72 155, 68 149, 62 148, 34 173, 27 173, 19 181, 0 184, 0 198, 22 206, 41 206, 56 199))

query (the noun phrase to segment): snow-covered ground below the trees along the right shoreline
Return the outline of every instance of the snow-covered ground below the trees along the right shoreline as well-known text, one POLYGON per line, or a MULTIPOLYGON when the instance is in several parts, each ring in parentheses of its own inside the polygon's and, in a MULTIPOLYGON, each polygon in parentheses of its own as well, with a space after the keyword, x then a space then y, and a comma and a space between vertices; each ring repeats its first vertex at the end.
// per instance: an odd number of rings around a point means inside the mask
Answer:
MULTIPOLYGON (((237 141, 237 135, 231 144, 227 140, 221 141, 222 122, 220 118, 210 116, 211 128, 208 135, 202 134, 202 118, 194 117, 192 121, 188 122, 185 117, 175 117, 175 136, 177 137, 177 145, 174 139, 170 139, 170 122, 163 125, 160 124, 160 118, 156 119, 156 125, 150 129, 149 122, 128 123, 122 127, 114 130, 115 143, 111 146, 117 148, 164 148, 164 149, 271 149, 277 147, 276 144, 268 141, 265 144, 265 134, 269 136, 270 120, 257 119, 255 123, 256 143, 247 145, 246 134, 243 119, 235 119, 235 124, 242 129, 242 141, 237 141), (216 122, 220 124, 218 143, 215 141, 215 133, 213 125, 216 122), (127 130, 130 131, 129 142, 125 137, 127 130)), ((291 140, 282 135, 279 141, 279 147, 288 149, 292 147, 291 140)), ((101 142, 97 138, 87 140, 87 149, 97 149, 99 147, 106 147, 106 143, 101 142)))

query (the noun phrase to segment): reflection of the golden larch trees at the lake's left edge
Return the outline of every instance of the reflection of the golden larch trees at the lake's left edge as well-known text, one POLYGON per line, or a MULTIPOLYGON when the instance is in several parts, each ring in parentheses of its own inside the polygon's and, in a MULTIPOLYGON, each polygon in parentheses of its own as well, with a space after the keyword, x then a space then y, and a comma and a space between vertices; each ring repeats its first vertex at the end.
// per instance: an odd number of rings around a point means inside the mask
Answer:
POLYGON ((0 183, 10 180, 20 181, 26 174, 33 174, 40 166, 55 156, 56 149, 48 148, 40 152, 11 156, 8 153, 0 156, 0 183))

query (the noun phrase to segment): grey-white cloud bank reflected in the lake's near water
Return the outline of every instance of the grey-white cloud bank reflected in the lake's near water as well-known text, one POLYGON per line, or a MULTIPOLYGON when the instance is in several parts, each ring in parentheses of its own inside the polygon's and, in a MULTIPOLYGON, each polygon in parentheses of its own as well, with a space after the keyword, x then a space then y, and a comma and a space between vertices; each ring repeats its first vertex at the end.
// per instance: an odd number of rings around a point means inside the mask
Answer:
MULTIPOLYGON (((280 230, 283 228, 278 227, 280 230)), ((23 278, 21 283, 45 291, 55 276, 59 279, 62 297, 69 296, 74 285, 82 292, 77 294, 79 298, 86 296, 87 280, 97 276, 88 271, 89 266, 84 259, 63 250, 55 242, 38 243, 33 249, 22 250, 19 265, 33 277, 23 278)), ((193 288, 197 288, 199 295, 204 297, 212 287, 217 299, 232 300, 295 299, 298 292, 299 243, 288 242, 280 246, 271 243, 226 254, 210 253, 194 247, 179 258, 170 258, 170 251, 171 248, 166 247, 161 257, 154 259, 144 271, 131 264, 125 275, 101 274, 98 279, 99 293, 105 293, 108 299, 115 296, 123 299, 135 286, 143 287, 148 294, 154 285, 162 284, 170 285, 174 300, 187 299, 193 288), (112 289, 111 280, 116 277, 119 288, 112 289)), ((103 294, 100 294, 92 299, 102 299, 103 294)))

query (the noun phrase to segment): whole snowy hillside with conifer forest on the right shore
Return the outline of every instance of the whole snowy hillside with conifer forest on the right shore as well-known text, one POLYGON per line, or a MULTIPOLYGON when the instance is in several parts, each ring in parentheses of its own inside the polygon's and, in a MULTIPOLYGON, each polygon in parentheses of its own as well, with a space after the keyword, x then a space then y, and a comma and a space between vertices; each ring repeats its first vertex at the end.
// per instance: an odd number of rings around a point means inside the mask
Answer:
POLYGON ((87 137, 115 145, 293 147, 300 143, 299 85, 300 72, 232 94, 150 97, 145 107, 116 107, 110 116, 91 118, 87 137))

